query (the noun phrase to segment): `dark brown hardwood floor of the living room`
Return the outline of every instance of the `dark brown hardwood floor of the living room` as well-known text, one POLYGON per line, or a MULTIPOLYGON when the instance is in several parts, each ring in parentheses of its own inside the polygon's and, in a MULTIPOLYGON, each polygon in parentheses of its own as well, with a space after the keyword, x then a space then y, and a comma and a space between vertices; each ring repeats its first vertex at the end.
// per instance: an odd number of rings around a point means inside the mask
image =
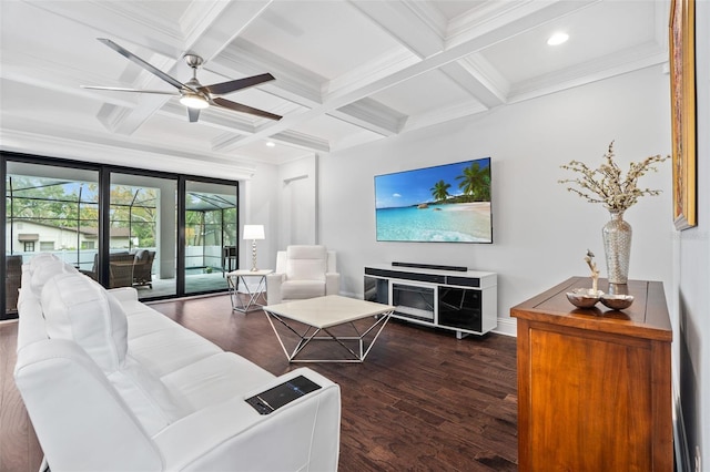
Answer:
MULTIPOLYGON (((274 374, 304 366, 287 362, 262 311, 233 314, 227 296, 151 306, 274 374)), ((36 472, 42 453, 12 380, 16 343, 17 324, 0 324, 0 472, 36 472)), ((342 389, 341 472, 517 470, 514 338, 457 340, 392 320, 364 363, 307 367, 342 389)))

